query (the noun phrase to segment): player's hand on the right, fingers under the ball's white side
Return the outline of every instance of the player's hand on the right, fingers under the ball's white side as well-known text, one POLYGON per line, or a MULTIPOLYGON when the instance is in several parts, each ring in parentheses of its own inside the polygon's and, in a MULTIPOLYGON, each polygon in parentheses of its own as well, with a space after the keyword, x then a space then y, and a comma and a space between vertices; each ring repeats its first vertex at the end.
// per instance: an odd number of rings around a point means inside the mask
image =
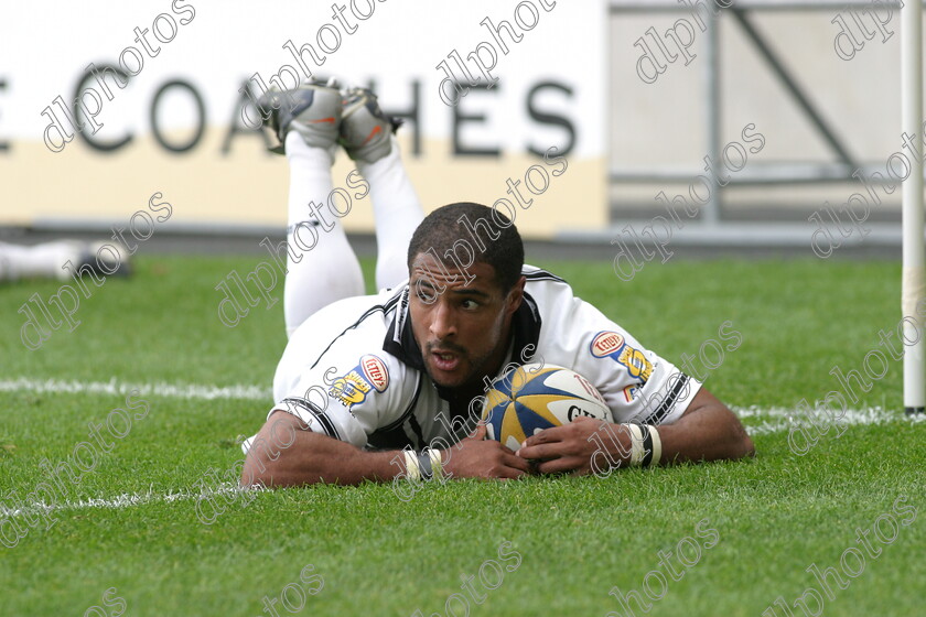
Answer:
POLYGON ((517 456, 536 462, 541 474, 606 473, 627 464, 631 435, 620 424, 579 416, 528 437, 517 456))

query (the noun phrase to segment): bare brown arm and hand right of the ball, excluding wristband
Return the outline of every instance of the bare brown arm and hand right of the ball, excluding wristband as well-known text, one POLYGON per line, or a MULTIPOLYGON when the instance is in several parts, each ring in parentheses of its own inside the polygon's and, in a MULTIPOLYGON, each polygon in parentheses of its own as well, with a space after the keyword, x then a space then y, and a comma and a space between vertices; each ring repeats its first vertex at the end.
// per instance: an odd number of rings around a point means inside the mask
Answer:
MULTIPOLYGON (((660 465, 685 461, 736 459, 755 454, 742 423, 720 400, 701 388, 681 418, 657 427, 660 465)), ((548 429, 526 441, 518 455, 537 459, 540 473, 605 472, 631 464, 631 430, 620 424, 580 418, 548 429)))

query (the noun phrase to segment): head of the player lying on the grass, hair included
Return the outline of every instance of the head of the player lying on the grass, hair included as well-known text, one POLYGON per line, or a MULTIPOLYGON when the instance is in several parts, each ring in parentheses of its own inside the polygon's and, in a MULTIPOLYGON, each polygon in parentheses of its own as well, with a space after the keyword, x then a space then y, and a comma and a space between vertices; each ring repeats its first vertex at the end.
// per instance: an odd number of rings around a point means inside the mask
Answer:
POLYGON ((408 249, 411 325, 424 366, 457 388, 497 370, 524 295, 524 243, 514 223, 473 203, 428 215, 408 249))

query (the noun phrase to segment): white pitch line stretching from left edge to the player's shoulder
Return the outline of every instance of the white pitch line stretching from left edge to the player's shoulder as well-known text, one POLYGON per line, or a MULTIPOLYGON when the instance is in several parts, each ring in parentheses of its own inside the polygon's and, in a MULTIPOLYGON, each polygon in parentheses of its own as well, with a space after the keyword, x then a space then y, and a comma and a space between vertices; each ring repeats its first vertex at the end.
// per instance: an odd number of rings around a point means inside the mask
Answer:
POLYGON ((2 392, 35 393, 89 393, 89 394, 128 394, 138 390, 139 396, 169 397, 213 401, 216 399, 239 399, 270 401, 271 389, 261 386, 203 386, 196 383, 121 383, 109 381, 64 381, 61 379, 18 379, 0 380, 2 392))

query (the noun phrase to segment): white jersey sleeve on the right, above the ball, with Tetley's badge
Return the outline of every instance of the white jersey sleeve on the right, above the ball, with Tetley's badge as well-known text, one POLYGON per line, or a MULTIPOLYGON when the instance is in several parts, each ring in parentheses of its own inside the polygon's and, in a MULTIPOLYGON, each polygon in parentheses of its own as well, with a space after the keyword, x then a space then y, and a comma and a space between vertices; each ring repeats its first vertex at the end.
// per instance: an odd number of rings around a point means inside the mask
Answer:
POLYGON ((537 361, 585 377, 604 397, 615 422, 668 424, 681 418, 701 383, 575 297, 569 285, 558 286, 546 299, 552 303, 551 311, 542 313, 542 358, 537 361))

